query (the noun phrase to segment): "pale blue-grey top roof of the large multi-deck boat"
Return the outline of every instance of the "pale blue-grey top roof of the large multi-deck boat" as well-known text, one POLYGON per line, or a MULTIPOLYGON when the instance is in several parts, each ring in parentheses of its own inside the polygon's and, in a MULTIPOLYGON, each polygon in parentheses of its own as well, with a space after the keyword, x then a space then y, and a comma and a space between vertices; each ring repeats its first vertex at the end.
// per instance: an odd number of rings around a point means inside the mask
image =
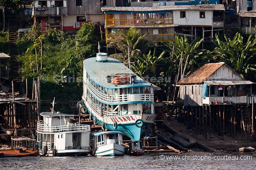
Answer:
MULTIPOLYGON (((116 85, 111 84, 107 81, 107 77, 110 75, 125 75, 129 74, 129 68, 127 68, 121 61, 115 58, 107 58, 106 62, 96 61, 96 57, 88 58, 83 61, 83 66, 90 76, 90 78, 98 85, 104 88, 124 88, 124 87, 141 87, 141 86, 152 86, 152 84, 143 80, 136 75, 136 82, 133 85, 116 85)), ((133 71, 130 71, 131 75, 135 75, 133 71)))

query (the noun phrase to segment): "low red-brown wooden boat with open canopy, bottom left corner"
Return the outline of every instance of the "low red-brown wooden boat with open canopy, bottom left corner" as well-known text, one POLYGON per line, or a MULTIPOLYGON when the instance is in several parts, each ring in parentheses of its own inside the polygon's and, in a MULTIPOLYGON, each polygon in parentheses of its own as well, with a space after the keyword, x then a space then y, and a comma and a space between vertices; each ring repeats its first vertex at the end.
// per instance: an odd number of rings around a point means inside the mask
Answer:
POLYGON ((0 157, 38 156, 38 149, 35 148, 35 139, 24 136, 12 136, 11 139, 11 149, 0 150, 0 157))

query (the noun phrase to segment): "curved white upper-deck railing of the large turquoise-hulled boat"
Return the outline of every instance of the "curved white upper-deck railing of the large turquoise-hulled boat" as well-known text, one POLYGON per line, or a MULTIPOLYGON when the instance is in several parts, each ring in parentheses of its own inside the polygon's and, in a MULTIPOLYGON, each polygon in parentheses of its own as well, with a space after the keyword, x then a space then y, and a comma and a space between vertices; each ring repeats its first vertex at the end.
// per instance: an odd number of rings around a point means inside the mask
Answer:
POLYGON ((123 102, 154 102, 154 94, 149 93, 136 93, 136 94, 122 94, 122 95, 109 95, 98 91, 86 79, 86 84, 89 90, 97 95, 98 98, 109 103, 123 103, 123 102))

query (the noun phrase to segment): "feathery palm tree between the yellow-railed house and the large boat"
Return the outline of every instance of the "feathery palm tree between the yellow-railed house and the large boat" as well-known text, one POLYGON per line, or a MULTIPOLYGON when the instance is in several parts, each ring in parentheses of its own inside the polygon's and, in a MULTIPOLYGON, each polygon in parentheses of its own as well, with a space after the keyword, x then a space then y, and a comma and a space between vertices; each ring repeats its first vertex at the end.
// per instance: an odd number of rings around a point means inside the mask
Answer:
POLYGON ((109 47, 116 47, 121 53, 112 54, 113 58, 128 58, 128 47, 130 48, 130 57, 135 59, 135 55, 142 56, 142 54, 149 49, 150 46, 154 46, 155 43, 147 41, 147 33, 141 35, 140 30, 137 28, 129 28, 123 31, 119 38, 114 42, 109 43, 109 47))

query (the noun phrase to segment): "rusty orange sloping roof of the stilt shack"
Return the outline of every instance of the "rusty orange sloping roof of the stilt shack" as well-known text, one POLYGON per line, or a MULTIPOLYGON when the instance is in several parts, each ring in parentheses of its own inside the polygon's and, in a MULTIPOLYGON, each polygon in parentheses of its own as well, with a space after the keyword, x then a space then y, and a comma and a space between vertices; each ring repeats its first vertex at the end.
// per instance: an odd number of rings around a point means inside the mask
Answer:
POLYGON ((201 84, 224 64, 224 62, 205 64, 185 79, 179 81, 178 84, 201 84))

